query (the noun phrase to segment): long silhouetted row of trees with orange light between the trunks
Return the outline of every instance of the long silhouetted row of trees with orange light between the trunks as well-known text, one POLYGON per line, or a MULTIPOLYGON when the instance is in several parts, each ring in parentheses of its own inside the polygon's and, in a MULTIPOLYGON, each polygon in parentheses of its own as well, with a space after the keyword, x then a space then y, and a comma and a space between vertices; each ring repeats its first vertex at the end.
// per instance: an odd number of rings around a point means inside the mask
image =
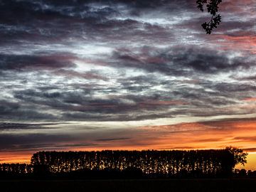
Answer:
POLYGON ((71 175, 127 174, 137 176, 230 176, 245 164, 242 149, 171 151, 39 151, 31 164, 0 164, 0 173, 71 175))

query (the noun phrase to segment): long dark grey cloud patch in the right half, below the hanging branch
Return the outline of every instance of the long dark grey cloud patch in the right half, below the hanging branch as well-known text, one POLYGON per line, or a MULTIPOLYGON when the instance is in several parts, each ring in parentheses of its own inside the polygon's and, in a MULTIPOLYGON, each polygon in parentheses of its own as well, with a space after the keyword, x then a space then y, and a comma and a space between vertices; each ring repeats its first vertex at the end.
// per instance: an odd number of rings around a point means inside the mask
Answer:
MULTIPOLYGON (((227 55, 209 48, 143 48, 114 52, 115 62, 128 68, 141 68, 166 75, 194 75, 194 73, 224 73, 239 68, 252 67, 244 58, 228 59, 227 55)), ((114 64, 113 64, 114 65, 114 64)))

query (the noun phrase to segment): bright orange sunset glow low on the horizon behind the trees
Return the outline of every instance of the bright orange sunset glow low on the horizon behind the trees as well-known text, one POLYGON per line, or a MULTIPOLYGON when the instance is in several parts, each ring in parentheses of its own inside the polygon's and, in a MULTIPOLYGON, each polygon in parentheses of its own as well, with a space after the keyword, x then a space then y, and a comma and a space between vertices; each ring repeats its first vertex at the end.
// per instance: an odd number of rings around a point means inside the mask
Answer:
MULTIPOLYGON (((256 170, 255 119, 193 122, 134 129, 137 134, 127 139, 103 139, 97 141, 95 146, 70 146, 61 151, 189 150, 224 149, 225 146, 236 146, 249 153, 245 169, 256 170)), ((29 163, 34 152, 36 151, 1 152, 0 163, 29 163)))

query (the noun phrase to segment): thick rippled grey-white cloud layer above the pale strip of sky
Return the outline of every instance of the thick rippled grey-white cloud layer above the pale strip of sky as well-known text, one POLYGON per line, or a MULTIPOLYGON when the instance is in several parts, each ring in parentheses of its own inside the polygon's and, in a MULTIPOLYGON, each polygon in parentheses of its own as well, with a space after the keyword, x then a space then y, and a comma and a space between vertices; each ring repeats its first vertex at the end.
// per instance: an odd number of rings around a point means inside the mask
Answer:
POLYGON ((255 112, 244 100, 255 97, 252 14, 223 4, 221 28, 206 36, 194 2, 177 3, 1 1, 0 119, 255 112))

